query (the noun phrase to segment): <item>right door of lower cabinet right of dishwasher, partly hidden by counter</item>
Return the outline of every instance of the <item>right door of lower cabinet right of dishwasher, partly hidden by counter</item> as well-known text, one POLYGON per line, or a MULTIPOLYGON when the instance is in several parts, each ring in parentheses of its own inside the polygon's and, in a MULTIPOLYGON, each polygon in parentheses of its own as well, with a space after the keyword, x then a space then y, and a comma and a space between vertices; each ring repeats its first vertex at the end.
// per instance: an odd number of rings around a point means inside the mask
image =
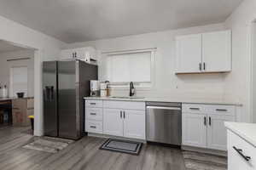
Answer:
POLYGON ((207 146, 215 150, 227 150, 227 131, 224 122, 234 122, 235 116, 208 115, 207 146))

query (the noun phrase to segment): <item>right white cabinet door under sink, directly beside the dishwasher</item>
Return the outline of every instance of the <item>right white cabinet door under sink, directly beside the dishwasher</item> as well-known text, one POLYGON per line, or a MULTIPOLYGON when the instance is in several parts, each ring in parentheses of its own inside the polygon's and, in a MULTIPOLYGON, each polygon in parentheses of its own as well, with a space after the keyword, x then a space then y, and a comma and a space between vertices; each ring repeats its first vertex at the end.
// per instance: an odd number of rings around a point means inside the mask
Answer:
POLYGON ((145 111, 124 111, 124 136, 133 139, 146 139, 145 111))

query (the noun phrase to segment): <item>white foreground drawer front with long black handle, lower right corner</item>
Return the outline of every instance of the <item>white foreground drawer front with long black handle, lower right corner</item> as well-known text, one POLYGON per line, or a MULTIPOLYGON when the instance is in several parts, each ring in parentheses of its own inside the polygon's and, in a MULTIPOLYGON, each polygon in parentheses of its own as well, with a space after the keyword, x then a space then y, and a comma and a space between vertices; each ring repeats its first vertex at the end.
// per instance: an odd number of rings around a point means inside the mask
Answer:
POLYGON ((228 130, 228 159, 229 170, 253 170, 256 168, 256 148, 228 130), (250 160, 243 158, 239 151, 243 156, 250 156, 250 160))

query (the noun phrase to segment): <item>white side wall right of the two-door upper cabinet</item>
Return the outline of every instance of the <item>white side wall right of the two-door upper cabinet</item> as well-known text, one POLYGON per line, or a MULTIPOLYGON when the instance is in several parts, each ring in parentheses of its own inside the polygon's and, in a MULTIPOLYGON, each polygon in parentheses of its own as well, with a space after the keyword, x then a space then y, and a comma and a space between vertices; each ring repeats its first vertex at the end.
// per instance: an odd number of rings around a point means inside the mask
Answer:
POLYGON ((226 98, 239 99, 240 120, 252 122, 251 102, 251 23, 256 19, 256 1, 244 0, 224 26, 232 29, 232 71, 225 78, 226 98))

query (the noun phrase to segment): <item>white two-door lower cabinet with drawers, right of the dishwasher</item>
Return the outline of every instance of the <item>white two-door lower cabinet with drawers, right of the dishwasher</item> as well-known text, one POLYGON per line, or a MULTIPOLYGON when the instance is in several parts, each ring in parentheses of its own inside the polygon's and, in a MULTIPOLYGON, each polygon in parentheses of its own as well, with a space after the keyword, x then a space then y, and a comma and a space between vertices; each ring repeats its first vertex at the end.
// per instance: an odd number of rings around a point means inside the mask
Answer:
POLYGON ((183 145, 227 150, 224 122, 236 122, 235 111, 235 106, 183 105, 183 145))

